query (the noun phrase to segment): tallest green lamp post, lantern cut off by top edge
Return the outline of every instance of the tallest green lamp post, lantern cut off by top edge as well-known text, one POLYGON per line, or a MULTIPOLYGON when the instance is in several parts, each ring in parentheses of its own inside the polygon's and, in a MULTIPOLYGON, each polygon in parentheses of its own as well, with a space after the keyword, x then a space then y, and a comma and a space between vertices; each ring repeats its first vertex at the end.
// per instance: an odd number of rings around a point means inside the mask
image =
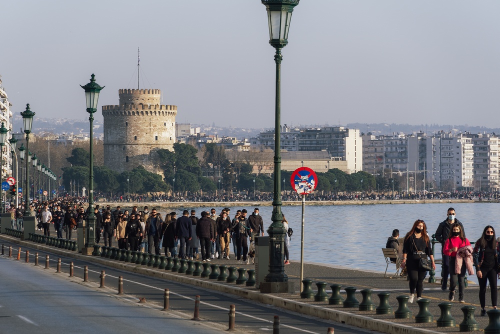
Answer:
POLYGON ((261 292, 291 292, 293 283, 288 282, 288 276, 284 273, 283 242, 286 233, 283 227, 283 215, 281 213, 281 153, 280 153, 280 112, 281 112, 281 49, 288 44, 288 31, 293 9, 299 0, 262 0, 267 11, 269 25, 269 44, 276 50, 274 62, 276 64, 276 95, 274 113, 274 190, 272 198, 272 223, 267 229, 269 234, 269 273, 265 281, 260 284, 261 292))

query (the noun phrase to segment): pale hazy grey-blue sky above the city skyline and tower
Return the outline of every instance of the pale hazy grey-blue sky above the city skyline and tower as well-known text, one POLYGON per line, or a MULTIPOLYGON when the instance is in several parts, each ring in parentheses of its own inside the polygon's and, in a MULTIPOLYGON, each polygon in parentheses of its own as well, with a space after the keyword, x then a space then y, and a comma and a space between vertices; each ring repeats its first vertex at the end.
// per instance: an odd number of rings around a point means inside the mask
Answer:
MULTIPOLYGON (((87 119, 90 74, 160 89, 178 123, 274 126, 274 49, 259 0, 1 3, 0 75, 14 114, 87 119)), ((497 0, 301 0, 281 64, 281 124, 500 127, 497 0)))

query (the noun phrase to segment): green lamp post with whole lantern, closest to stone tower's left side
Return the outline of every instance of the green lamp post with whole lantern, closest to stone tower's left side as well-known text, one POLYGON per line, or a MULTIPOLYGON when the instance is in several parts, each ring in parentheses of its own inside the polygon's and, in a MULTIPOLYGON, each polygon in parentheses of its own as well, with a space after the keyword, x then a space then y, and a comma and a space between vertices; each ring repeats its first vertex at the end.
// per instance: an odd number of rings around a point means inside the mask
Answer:
POLYGON ((85 100, 87 113, 90 115, 88 120, 90 121, 90 163, 88 172, 88 229, 87 229, 87 242, 85 246, 88 248, 93 248, 95 245, 95 215, 93 210, 93 114, 97 111, 97 101, 99 100, 99 93, 104 88, 104 86, 99 86, 95 82, 95 76, 92 74, 90 76, 90 82, 85 86, 81 86, 85 91, 85 100))

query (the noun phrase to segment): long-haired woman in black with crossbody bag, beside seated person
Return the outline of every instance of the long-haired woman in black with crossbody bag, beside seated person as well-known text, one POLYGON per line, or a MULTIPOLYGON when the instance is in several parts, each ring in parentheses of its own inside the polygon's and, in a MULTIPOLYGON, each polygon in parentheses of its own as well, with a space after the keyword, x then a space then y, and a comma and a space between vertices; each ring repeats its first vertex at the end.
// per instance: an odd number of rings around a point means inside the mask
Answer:
POLYGON ((409 277, 409 299, 412 303, 415 297, 416 300, 422 299, 423 279, 427 275, 427 270, 420 268, 420 258, 430 257, 432 268, 435 269, 434 255, 430 246, 429 236, 427 235, 427 226, 423 220, 417 219, 413 223, 411 230, 406 233, 403 242, 403 258, 401 267, 406 267, 409 277))

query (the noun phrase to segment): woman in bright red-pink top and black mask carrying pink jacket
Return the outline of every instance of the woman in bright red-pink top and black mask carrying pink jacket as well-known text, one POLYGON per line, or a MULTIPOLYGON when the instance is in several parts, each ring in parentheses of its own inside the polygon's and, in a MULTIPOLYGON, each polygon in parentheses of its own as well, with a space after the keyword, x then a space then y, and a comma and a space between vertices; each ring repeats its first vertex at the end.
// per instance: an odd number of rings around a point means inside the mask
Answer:
POLYGON ((465 238, 460 224, 454 223, 451 225, 451 231, 442 249, 442 252, 449 256, 449 301, 453 301, 454 299, 456 282, 458 281, 458 301, 465 302, 463 300, 463 291, 465 290, 466 266, 463 263, 457 263, 458 260, 461 260, 461 256, 457 256, 457 253, 461 252, 462 248, 467 246, 470 248, 470 257, 472 257, 470 242, 465 238))

